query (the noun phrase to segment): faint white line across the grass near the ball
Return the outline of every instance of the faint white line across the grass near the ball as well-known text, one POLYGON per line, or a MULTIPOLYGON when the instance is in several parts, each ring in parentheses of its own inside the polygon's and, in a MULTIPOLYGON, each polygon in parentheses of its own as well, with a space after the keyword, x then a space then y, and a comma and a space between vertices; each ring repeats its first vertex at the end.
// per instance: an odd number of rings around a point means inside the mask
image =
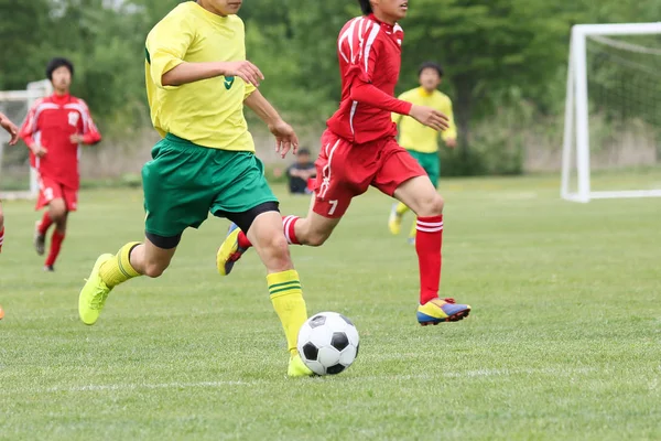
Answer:
MULTIPOLYGON (((446 372, 441 373, 442 378, 487 378, 487 377, 507 377, 507 376, 520 376, 520 375, 553 375, 567 377, 572 375, 583 375, 592 372, 596 372, 596 368, 592 367, 574 367, 574 368, 522 368, 522 369, 478 369, 478 370, 466 370, 466 372, 446 372)), ((438 380, 438 373, 430 374, 403 374, 403 375, 378 375, 378 376, 358 376, 348 377, 346 381, 357 383, 366 380, 379 380, 379 381, 398 381, 398 380, 411 380, 411 379, 436 379, 438 380)), ((321 379, 319 379, 321 380, 321 379)), ((234 386, 259 386, 267 385, 272 381, 270 380, 227 380, 227 381, 198 381, 198 383, 117 383, 107 385, 80 385, 80 386, 53 386, 48 388, 17 388, 14 390, 6 390, 6 392, 86 392, 86 391, 123 391, 123 390, 150 390, 150 389, 193 389, 193 388, 227 388, 234 386)))

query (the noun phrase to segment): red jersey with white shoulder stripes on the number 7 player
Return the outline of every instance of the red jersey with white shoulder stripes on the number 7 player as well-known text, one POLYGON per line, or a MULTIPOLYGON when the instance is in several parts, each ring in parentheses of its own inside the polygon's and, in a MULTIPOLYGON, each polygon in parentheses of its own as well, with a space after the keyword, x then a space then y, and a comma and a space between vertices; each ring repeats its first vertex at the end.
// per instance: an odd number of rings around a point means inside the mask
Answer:
POLYGON ((342 75, 339 109, 327 125, 337 136, 365 143, 397 136, 391 114, 409 115, 412 105, 394 98, 404 31, 373 14, 350 20, 337 39, 342 75))

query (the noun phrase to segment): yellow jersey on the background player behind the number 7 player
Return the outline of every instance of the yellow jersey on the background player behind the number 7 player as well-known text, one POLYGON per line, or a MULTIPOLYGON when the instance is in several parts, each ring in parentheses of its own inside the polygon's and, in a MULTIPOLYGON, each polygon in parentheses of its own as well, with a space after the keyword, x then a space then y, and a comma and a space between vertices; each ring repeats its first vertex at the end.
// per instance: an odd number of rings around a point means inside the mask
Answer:
MULTIPOLYGON (((449 127, 442 132, 443 140, 456 139, 457 128, 452 114, 452 100, 438 90, 429 94, 424 88, 416 87, 404 92, 399 99, 418 106, 426 106, 444 112, 449 118, 449 127)), ((435 153, 438 151, 438 132, 423 126, 409 116, 392 114, 392 120, 399 125, 399 143, 407 150, 421 153, 435 153)))

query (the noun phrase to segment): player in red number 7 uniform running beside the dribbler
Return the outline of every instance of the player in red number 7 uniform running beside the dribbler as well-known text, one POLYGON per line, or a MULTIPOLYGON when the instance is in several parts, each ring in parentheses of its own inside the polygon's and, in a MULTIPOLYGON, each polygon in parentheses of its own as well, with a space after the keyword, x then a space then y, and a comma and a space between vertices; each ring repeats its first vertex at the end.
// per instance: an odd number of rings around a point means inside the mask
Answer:
MULTIPOLYGON (((286 216, 291 244, 322 245, 351 200, 375 186, 418 214, 420 306, 422 325, 454 322, 470 312, 466 304, 438 298, 444 201, 421 165, 397 143, 391 112, 444 130, 440 111, 394 98, 404 37, 397 21, 407 15, 407 0, 359 0, 364 17, 345 24, 337 41, 342 74, 339 109, 327 122, 315 164, 317 179, 307 217, 286 216)), ((218 271, 227 275, 250 243, 236 226, 218 250, 218 271)))

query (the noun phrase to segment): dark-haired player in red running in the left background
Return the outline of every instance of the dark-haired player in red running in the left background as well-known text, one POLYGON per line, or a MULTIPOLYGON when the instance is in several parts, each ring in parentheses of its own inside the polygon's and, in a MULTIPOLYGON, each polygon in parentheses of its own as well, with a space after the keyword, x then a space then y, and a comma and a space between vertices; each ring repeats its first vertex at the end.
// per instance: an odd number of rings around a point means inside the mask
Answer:
POLYGON ((36 209, 48 207, 36 222, 34 232, 34 248, 40 256, 44 254, 46 233, 55 224, 45 271, 54 270, 66 234, 68 213, 77 209, 80 144, 91 146, 101 140, 85 101, 69 94, 73 76, 72 62, 51 60, 46 77, 53 84, 54 93, 32 106, 20 133, 30 149, 31 164, 39 173, 36 209))

